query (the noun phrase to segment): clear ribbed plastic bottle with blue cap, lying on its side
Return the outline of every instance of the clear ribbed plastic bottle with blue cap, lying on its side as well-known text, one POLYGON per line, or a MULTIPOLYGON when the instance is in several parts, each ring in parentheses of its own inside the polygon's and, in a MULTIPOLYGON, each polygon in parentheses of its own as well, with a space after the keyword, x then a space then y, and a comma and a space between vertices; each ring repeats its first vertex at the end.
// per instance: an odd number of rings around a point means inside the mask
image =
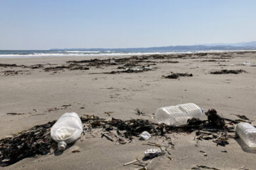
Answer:
POLYGON ((199 118, 203 109, 194 103, 161 107, 156 110, 156 120, 159 124, 164 123, 171 126, 186 124, 189 118, 199 118))

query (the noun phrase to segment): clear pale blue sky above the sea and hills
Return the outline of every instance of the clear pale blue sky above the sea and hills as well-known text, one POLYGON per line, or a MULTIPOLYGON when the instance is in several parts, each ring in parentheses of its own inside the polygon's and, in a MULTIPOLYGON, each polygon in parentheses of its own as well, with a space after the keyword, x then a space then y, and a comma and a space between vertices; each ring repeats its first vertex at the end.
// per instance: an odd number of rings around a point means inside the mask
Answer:
POLYGON ((0 50, 256 41, 255 0, 0 0, 0 50))

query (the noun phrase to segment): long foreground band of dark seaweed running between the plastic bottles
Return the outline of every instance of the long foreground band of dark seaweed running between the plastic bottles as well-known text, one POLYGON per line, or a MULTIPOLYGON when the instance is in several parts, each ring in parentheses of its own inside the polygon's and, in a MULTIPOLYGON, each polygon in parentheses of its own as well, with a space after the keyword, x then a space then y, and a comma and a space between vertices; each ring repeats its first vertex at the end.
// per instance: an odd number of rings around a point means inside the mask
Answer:
MULTIPOLYGON (((84 126, 84 134, 91 133, 92 129, 102 128, 102 137, 110 141, 117 141, 121 144, 132 141, 134 137, 139 137, 143 131, 148 131, 153 136, 163 136, 169 140, 167 134, 175 132, 192 132, 197 131, 198 140, 212 139, 217 145, 224 146, 228 144, 228 139, 232 138, 228 132, 234 133, 234 122, 228 121, 232 127, 227 127, 228 124, 224 119, 217 114, 214 109, 208 110, 205 113, 208 120, 191 119, 184 126, 167 126, 165 124, 156 124, 149 120, 120 120, 112 118, 106 120, 98 118, 98 116, 85 115, 81 116, 81 121, 84 126), (90 132, 91 131, 91 132, 90 132), (114 134, 114 137, 109 137, 108 134, 114 134)), ((13 137, 7 137, 0 140, 0 166, 8 166, 24 158, 33 157, 36 155, 45 155, 51 152, 51 148, 56 149, 56 143, 51 139, 50 129, 56 121, 34 126, 27 131, 21 131, 13 137)), ((234 135, 233 135, 234 136, 234 135)))

